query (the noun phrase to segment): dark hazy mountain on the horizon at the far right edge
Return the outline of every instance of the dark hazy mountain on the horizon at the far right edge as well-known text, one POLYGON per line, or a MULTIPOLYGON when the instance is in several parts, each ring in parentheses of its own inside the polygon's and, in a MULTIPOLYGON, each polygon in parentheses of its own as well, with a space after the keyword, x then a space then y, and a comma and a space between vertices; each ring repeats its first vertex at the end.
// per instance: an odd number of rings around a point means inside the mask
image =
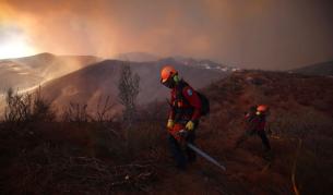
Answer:
POLYGON ((290 72, 306 75, 333 75, 333 61, 307 65, 304 68, 292 70, 290 72))

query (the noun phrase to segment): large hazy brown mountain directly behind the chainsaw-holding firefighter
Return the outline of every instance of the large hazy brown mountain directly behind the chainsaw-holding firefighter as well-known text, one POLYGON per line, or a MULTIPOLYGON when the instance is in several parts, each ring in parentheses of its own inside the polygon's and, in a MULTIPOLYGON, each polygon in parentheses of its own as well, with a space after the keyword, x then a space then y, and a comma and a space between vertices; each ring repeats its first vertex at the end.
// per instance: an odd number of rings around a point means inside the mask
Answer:
POLYGON ((165 100, 168 97, 169 90, 159 83, 159 71, 166 63, 171 63, 179 71, 180 76, 195 89, 202 88, 228 74, 228 72, 218 69, 187 65, 173 59, 155 62, 106 60, 46 83, 43 86, 43 94, 52 100, 56 107, 63 107, 70 101, 94 106, 99 97, 106 96, 110 96, 114 102, 118 102, 117 84, 121 66, 124 63, 128 63, 133 73, 136 73, 141 78, 139 103, 165 100))

